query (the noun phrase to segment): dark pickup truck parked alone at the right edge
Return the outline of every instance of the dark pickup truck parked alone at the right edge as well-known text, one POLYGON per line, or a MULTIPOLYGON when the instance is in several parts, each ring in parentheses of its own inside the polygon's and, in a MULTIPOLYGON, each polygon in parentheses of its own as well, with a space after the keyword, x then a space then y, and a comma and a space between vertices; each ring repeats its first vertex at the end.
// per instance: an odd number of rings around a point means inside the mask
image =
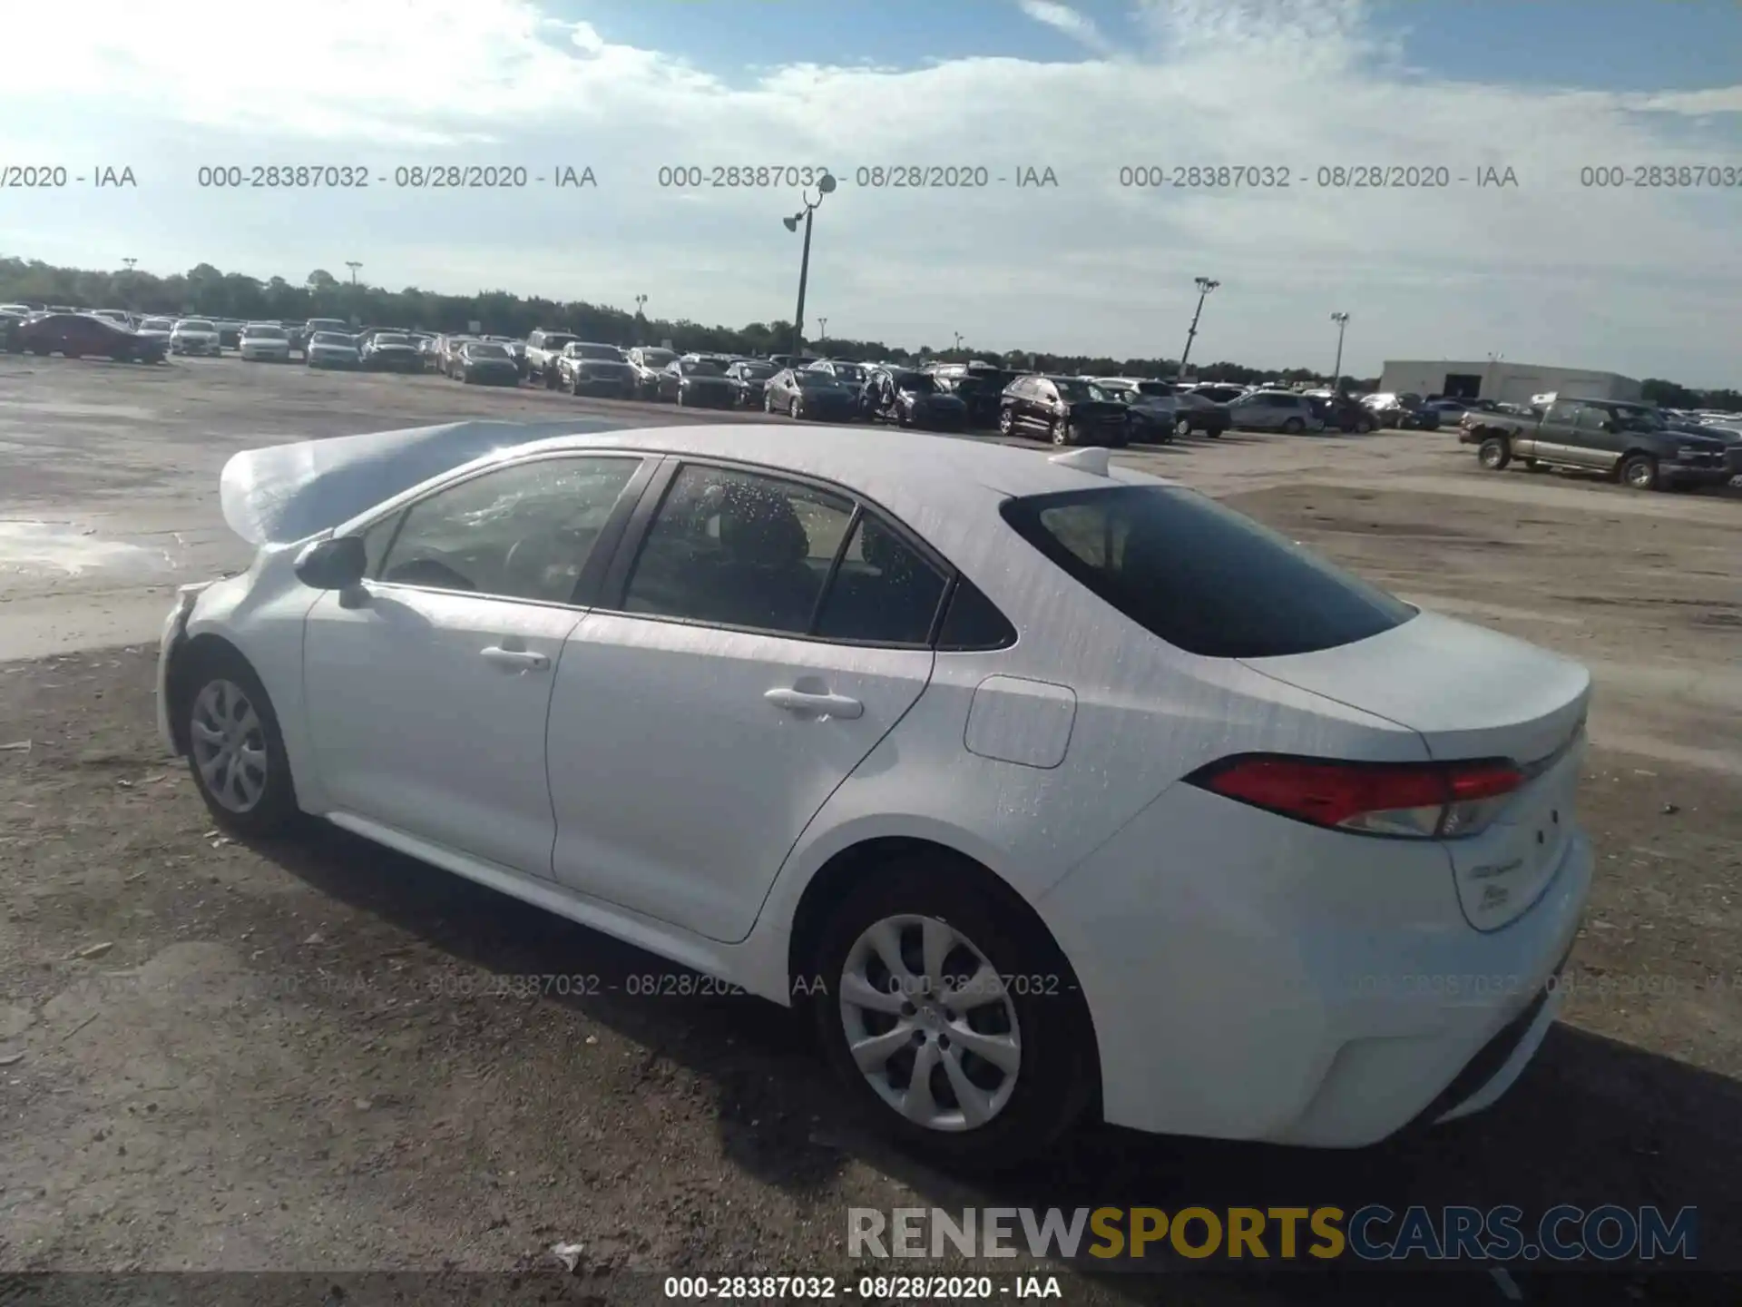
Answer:
POLYGON ((1632 490, 1721 486, 1735 472, 1716 436, 1672 430, 1650 404, 1542 396, 1528 413, 1465 413, 1458 441, 1474 444, 1482 467, 1568 467, 1608 472, 1632 490))

